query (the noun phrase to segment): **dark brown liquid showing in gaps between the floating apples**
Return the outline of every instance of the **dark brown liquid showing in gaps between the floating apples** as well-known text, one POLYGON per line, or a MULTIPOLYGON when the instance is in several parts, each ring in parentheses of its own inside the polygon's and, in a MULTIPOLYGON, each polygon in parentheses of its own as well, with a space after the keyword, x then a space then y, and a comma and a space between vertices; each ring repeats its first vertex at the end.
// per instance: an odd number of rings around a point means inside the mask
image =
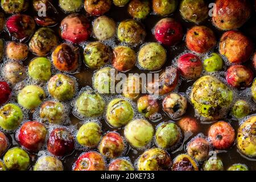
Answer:
MULTIPOLYGON (((63 11, 60 10, 59 6, 56 4, 57 1, 55 1, 55 3, 53 3, 53 5, 56 7, 58 14, 57 16, 55 15, 55 17, 57 17, 58 22, 60 23, 61 20, 67 16, 67 14, 63 13, 63 11)), ((214 1, 207 1, 207 3, 210 2, 214 2, 214 1)), ((252 5, 251 7, 253 7, 253 1, 251 1, 252 5)), ((32 5, 30 5, 30 8, 24 13, 24 14, 28 14, 31 16, 36 15, 36 13, 34 11, 32 11, 32 5)), ((81 14, 85 14, 84 9, 82 9, 79 13, 81 14)), ((129 19, 130 16, 127 13, 127 6, 125 7, 116 7, 116 6, 112 6, 112 9, 106 14, 107 16, 113 18, 115 20, 115 22, 121 22, 122 20, 125 19, 129 19)), ((173 15, 170 16, 171 18, 176 19, 177 21, 181 22, 181 24, 183 25, 184 28, 184 33, 192 26, 195 26, 195 24, 193 23, 189 23, 186 22, 185 20, 183 20, 180 16, 179 10, 177 9, 175 11, 175 13, 173 15)), ((93 20, 93 17, 89 17, 91 20, 93 20)), ((156 15, 148 15, 148 17, 144 20, 142 20, 142 23, 144 24, 144 27, 146 28, 147 31, 147 36, 145 39, 145 42, 155 42, 155 38, 154 35, 152 35, 151 30, 152 28, 155 26, 156 22, 158 22, 160 19, 162 19, 163 17, 160 16, 156 16, 156 15)), ((251 15, 251 18, 243 25, 243 27, 240 28, 240 31, 242 31, 245 35, 249 36, 251 39, 253 39, 254 43, 256 40, 256 24, 255 24, 255 19, 256 19, 256 15, 255 15, 255 11, 253 10, 253 13, 251 15)), ((222 35, 222 31, 218 31, 215 27, 213 27, 212 23, 211 23, 211 19, 207 19, 205 20, 204 23, 202 23, 202 25, 208 26, 209 28, 212 28, 212 30, 215 32, 218 40, 220 39, 220 36, 222 35)), ((38 27, 39 28, 39 27, 38 27)), ((57 24, 57 26, 52 27, 53 30, 55 30, 56 34, 59 34, 59 24, 57 24)), ((3 39, 10 40, 9 35, 6 32, 3 32, 1 34, 1 37, 3 39)), ((61 39, 60 39, 61 40, 61 39)), ((96 41, 96 39, 90 38, 89 41, 96 41)), ((116 40, 117 44, 118 41, 116 40)), ((167 63, 165 65, 171 65, 172 64, 172 60, 178 56, 180 53, 182 53, 186 48, 184 41, 177 44, 175 47, 165 47, 167 50, 167 55, 168 55, 168 59, 167 59, 167 63)), ((134 48, 135 51, 139 50, 139 46, 137 48, 134 48)), ((215 52, 218 52, 218 49, 216 47, 215 52)), ((82 48, 81 48, 81 53, 82 53, 82 48)), ((25 65, 27 65, 29 63, 30 60, 32 60, 34 57, 34 55, 32 55, 30 53, 30 56, 28 57, 28 59, 25 61, 25 65)), ((247 61, 246 63, 248 65, 248 67, 251 67, 250 65, 250 61, 247 61)), ((163 67, 163 69, 165 68, 163 67)), ((251 69, 254 69, 253 67, 251 67, 251 69)), ((133 70, 127 72, 127 73, 142 73, 144 71, 139 70, 138 68, 134 68, 133 70)), ((81 71, 80 73, 76 73, 74 76, 78 78, 79 81, 79 89, 81 89, 82 87, 89 85, 92 86, 92 75, 93 75, 93 71, 87 67, 85 67, 84 64, 81 65, 81 71)), ((180 93, 185 93, 187 88, 189 86, 191 86, 193 84, 193 82, 187 82, 187 81, 182 81, 181 86, 179 88, 179 92, 180 93)), ((250 97, 250 96, 248 96, 250 97)), ((160 104, 160 102, 159 102, 160 104)), ((163 121, 175 121, 170 119, 163 111, 161 111, 162 117, 163 119, 159 122, 151 122, 152 125, 156 126, 158 125, 160 122, 163 121)), ((253 114, 253 113, 251 113, 253 114)), ((193 107, 189 104, 188 105, 188 109, 185 115, 188 116, 194 116, 195 112, 193 110, 193 107)), ((184 115, 184 116, 185 116, 184 115)), ((81 126, 81 124, 79 123, 79 119, 77 119, 75 116, 73 116, 71 114, 71 120, 72 120, 72 124, 73 125, 77 125, 77 128, 79 128, 81 126)), ((30 118, 35 119, 35 118, 30 118)), ((227 118, 223 118, 224 121, 231 121, 231 117, 228 115, 227 118)), ((106 122, 103 120, 101 121, 102 123, 102 130, 105 132, 107 131, 113 131, 112 128, 109 127, 108 124, 106 124, 106 122)), ((207 136, 208 133, 208 129, 210 127, 210 123, 209 124, 200 124, 200 131, 199 133, 203 133, 205 136, 207 136)), ((234 129, 237 131, 238 129, 238 121, 236 120, 232 120, 231 125, 234 127, 234 129)), ((123 129, 118 129, 117 130, 121 135, 123 135, 123 129)), ((187 144, 187 142, 189 142, 189 140, 193 137, 195 137, 198 133, 193 134, 191 137, 189 137, 186 142, 184 142, 184 146, 181 146, 181 150, 177 151, 177 152, 171 152, 170 151, 170 155, 171 158, 174 159, 175 156, 177 156, 178 154, 182 154, 185 153, 186 151, 184 150, 185 148, 185 144, 187 144)), ((9 136, 9 140, 10 140, 10 147, 12 148, 13 146, 17 146, 18 143, 15 141, 14 139, 14 135, 8 135, 9 136)), ((152 146, 154 147, 154 145, 152 146)), ((69 156, 65 156, 64 158, 62 158, 62 162, 64 164, 64 169, 65 170, 71 170, 72 169, 72 165, 73 163, 75 163, 76 159, 79 157, 79 155, 84 152, 84 151, 74 151, 71 155, 69 156)), ((134 148, 131 148, 129 146, 129 150, 127 151, 125 156, 129 156, 131 161, 134 163, 134 161, 139 157, 139 155, 142 154, 143 151, 137 151, 134 148)), ((245 159, 244 157, 242 157, 238 152, 237 152, 237 147, 236 145, 234 145, 233 147, 231 147, 229 150, 227 151, 219 151, 220 153, 218 154, 218 156, 222 159, 223 163, 224 163, 224 167, 225 169, 227 169, 229 166, 231 166, 232 164, 235 163, 242 163, 242 164, 246 164, 250 170, 256 170, 256 163, 253 160, 249 160, 249 159, 245 159)), ((31 166, 34 166, 34 163, 36 162, 37 156, 34 154, 30 154, 31 159, 32 159, 32 163, 31 166)), ((3 157, 3 156, 2 156, 3 157)), ((108 160, 109 162, 109 160, 108 160)))

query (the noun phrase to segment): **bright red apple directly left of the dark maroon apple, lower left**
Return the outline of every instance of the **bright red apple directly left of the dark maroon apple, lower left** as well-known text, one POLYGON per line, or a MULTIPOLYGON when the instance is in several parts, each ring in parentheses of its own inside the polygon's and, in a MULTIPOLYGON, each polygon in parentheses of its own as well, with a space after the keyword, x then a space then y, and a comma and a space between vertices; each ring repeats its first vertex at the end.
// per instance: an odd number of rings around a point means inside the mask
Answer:
POLYGON ((42 123, 28 121, 19 130, 19 143, 30 151, 39 151, 46 140, 47 130, 42 123))

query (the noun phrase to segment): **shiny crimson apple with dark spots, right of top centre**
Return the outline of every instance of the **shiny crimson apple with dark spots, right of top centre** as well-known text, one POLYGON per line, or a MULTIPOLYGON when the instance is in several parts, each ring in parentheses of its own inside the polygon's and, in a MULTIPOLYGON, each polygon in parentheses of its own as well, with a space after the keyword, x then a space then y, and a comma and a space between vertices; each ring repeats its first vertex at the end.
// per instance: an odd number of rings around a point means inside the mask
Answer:
POLYGON ((166 46, 174 46, 183 39, 183 28, 172 18, 163 18, 155 26, 155 38, 166 46))

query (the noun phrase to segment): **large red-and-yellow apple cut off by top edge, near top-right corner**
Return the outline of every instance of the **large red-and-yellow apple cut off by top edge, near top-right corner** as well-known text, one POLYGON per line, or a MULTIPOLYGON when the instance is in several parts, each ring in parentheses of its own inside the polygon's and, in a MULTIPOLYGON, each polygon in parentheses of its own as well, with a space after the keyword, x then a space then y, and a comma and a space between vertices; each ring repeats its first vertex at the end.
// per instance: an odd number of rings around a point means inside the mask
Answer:
POLYGON ((212 23, 220 30, 234 30, 240 28, 251 15, 249 1, 246 0, 217 0, 216 15, 212 16, 212 23))

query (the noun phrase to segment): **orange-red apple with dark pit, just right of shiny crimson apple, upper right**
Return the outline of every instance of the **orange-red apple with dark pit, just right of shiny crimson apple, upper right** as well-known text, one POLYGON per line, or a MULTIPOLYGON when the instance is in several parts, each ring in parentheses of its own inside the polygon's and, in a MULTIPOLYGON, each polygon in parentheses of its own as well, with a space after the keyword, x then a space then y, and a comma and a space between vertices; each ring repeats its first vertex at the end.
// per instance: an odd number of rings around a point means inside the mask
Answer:
POLYGON ((188 49, 197 53, 204 53, 217 44, 214 32, 205 26, 195 26, 188 30, 186 35, 188 49))

